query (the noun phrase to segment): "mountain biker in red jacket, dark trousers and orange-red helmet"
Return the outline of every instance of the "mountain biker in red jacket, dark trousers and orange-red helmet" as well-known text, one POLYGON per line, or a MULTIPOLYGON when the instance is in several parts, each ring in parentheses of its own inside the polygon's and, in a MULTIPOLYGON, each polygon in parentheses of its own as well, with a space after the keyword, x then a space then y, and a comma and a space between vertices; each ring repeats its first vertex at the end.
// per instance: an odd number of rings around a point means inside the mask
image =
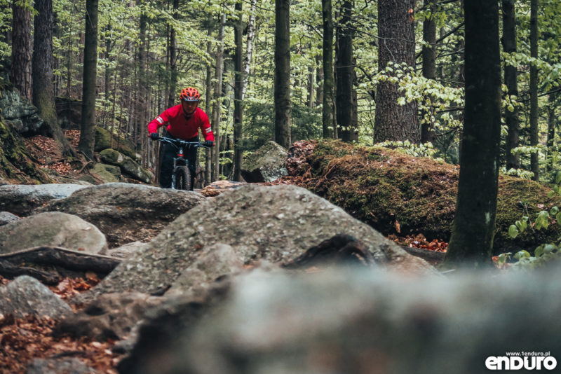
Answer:
MULTIPOLYGON (((203 137, 205 137, 205 146, 214 146, 215 135, 212 133, 212 129, 210 128, 208 116, 203 109, 198 108, 198 102, 200 99, 201 94, 198 93, 196 88, 184 88, 180 94, 181 104, 166 109, 148 124, 148 136, 150 139, 158 139, 158 128, 168 124, 165 129, 168 131, 168 137, 172 139, 198 141, 198 129, 201 129, 203 137)), ((172 144, 163 144, 163 151, 161 153, 162 159, 160 164, 160 186, 162 188, 171 187, 173 158, 175 158, 176 151, 177 149, 172 144)), ((191 170, 191 190, 193 190, 196 172, 197 148, 194 146, 188 147, 185 150, 185 156, 189 162, 189 169, 191 170)))

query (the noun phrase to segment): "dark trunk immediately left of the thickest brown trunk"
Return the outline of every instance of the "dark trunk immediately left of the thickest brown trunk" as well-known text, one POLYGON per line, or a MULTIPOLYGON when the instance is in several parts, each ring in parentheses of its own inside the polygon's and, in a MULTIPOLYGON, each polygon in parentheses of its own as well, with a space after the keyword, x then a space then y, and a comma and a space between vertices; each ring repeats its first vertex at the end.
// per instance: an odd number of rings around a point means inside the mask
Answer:
POLYGON ((341 8, 341 27, 337 29, 337 129, 343 141, 358 141, 358 128, 353 123, 353 3, 345 0, 341 8))

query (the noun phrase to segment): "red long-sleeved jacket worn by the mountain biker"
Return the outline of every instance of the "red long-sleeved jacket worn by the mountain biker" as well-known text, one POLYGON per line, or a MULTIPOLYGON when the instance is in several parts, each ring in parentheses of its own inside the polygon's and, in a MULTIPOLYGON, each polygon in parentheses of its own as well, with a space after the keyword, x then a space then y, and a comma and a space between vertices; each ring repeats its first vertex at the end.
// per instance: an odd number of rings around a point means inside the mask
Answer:
POLYGON ((182 105, 172 106, 157 116, 148 124, 148 133, 158 131, 158 128, 168 123, 167 130, 174 137, 179 139, 191 139, 198 135, 198 129, 201 129, 205 140, 215 140, 215 134, 212 133, 208 116, 201 108, 197 108, 195 113, 189 118, 183 113, 182 105))

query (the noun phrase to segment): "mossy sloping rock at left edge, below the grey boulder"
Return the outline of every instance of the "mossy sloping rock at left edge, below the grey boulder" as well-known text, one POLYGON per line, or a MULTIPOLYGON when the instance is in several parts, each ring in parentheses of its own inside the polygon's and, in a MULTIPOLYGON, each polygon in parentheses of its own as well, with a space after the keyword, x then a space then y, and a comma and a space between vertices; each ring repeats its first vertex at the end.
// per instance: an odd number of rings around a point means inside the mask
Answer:
POLYGON ((0 178, 9 183, 51 183, 47 174, 36 166, 21 139, 0 117, 0 178))

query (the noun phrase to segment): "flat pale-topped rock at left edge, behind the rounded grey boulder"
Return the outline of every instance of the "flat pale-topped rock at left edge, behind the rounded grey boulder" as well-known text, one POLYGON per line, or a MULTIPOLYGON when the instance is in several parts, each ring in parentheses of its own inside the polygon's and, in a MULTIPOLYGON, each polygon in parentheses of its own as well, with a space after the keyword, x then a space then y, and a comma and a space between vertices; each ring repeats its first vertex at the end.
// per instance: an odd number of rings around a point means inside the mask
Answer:
POLYGON ((79 184, 5 184, 0 186, 0 210, 27 216, 46 202, 67 198, 84 187, 79 184))

